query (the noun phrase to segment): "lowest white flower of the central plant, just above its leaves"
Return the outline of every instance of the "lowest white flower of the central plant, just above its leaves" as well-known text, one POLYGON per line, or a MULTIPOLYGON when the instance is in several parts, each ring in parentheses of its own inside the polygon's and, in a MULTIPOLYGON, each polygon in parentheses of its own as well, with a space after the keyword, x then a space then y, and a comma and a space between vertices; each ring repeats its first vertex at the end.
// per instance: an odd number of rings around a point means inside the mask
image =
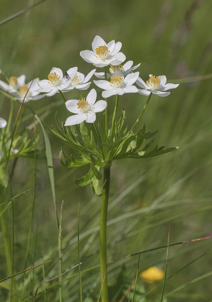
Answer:
POLYGON ((97 93, 95 89, 91 89, 86 97, 86 100, 68 100, 65 106, 68 111, 77 113, 68 117, 64 126, 72 126, 82 123, 84 120, 87 123, 94 123, 96 120, 96 112, 101 112, 107 107, 107 102, 100 100, 95 103, 97 93))

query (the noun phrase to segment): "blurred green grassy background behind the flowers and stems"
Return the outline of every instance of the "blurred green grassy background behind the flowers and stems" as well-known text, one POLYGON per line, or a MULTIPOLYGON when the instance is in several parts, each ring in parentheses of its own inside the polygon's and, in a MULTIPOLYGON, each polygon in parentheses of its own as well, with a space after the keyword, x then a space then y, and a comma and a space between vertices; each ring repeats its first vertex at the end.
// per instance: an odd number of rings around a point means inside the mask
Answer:
MULTIPOLYGON (((0 20, 31 4, 32 0, 2 0, 0 20)), ((133 60, 134 64, 141 62, 138 71, 144 81, 148 80, 148 74, 165 74, 168 80, 210 74, 211 10, 212 2, 206 0, 48 0, 1 26, 0 68, 8 77, 26 74, 27 82, 34 77, 46 79, 52 67, 59 67, 65 73, 70 67, 78 66, 78 71, 87 74, 93 66, 83 61, 79 52, 91 49, 94 36, 100 35, 107 43, 113 39, 122 42, 121 51, 126 55, 127 61, 133 60)), ((101 69, 98 68, 98 71, 101 69)), ((1 79, 4 80, 2 75, 1 79)), ((180 146, 177 151, 153 159, 113 162, 108 212, 108 221, 111 223, 108 226, 108 256, 111 260, 167 244, 168 222, 171 222, 170 243, 212 235, 211 81, 207 79, 180 84, 167 97, 153 95, 151 98, 140 126, 145 122, 147 131, 159 129, 155 142, 160 146, 180 146), (153 202, 155 207, 148 208, 153 202)), ((96 87, 91 84, 91 88, 96 87)), ((100 99, 101 91, 97 91, 100 99)), ((65 97, 78 98, 78 94, 72 90, 65 97)), ((113 112, 114 100, 115 97, 108 99, 109 113, 113 112)), ((1 95, 0 102, 0 116, 8 120, 10 100, 1 95)), ((139 94, 125 94, 121 97, 120 103, 126 110, 126 123, 129 126, 133 125, 145 102, 146 97, 139 94)), ((61 121, 69 116, 59 94, 31 101, 30 105, 39 117, 47 111, 43 120, 48 125, 56 125, 56 110, 61 121), (52 106, 53 104, 56 106, 52 106)), ((14 118, 18 107, 15 103, 14 118)), ((33 123, 33 116, 27 110, 25 117, 23 127, 33 123)), ((40 132, 40 141, 43 142, 39 125, 37 131, 40 132)), ((88 167, 66 169, 61 166, 57 159, 61 141, 51 134, 49 138, 55 157, 58 212, 61 201, 64 200, 63 271, 78 263, 76 236, 80 192, 80 256, 81 270, 84 270, 99 264, 99 234, 95 229, 93 232, 88 230, 99 224, 101 199, 93 195, 89 185, 79 188, 73 182, 73 177, 85 175, 88 167)), ((64 149, 67 154, 71 153, 69 146, 64 145, 64 149)), ((14 194, 33 187, 33 167, 33 159, 18 159, 12 182, 14 194)), ((39 187, 36 190, 30 253, 34 253, 38 215, 36 264, 42 262, 42 255, 44 261, 53 259, 51 264, 45 265, 47 280, 58 274, 58 239, 45 159, 40 159, 37 163, 37 185, 39 187)), ((16 272, 24 269, 32 196, 33 193, 29 192, 14 202, 16 272)), ((10 211, 8 219, 10 222, 10 211)), ((167 276, 174 274, 210 248, 210 239, 171 247, 167 276)), ((141 255, 139 271, 155 264, 164 269, 165 257, 164 249, 141 255)), ((137 260, 137 257, 131 257, 109 264, 110 301, 121 297, 135 279, 137 260)), ((1 235, 0 263, 2 279, 7 273, 1 235)), ((211 264, 209 251, 200 260, 167 280, 165 295, 212 271, 211 264)), ((28 267, 30 265, 29 257, 28 267)), ((77 272, 78 268, 67 273, 64 278, 77 272)), ((28 294, 32 294, 28 290, 29 281, 30 274, 25 280, 25 299, 28 294)), ((43 281, 41 268, 35 270, 33 281, 35 291, 43 281)), ((55 282, 47 283, 46 286, 55 282)), ((22 275, 17 277, 17 283, 20 291, 22 275)), ((159 299, 162 287, 142 298, 142 293, 151 290, 154 284, 144 283, 141 278, 138 284, 141 294, 138 293, 137 301, 159 299)), ((64 301, 79 301, 78 277, 64 281, 62 286, 64 301)), ((82 274, 85 301, 97 300, 99 286, 99 268, 82 274)), ((44 289, 44 285, 40 289, 44 289)), ((48 289, 47 295, 48 301, 58 301, 58 286, 48 289)), ((0 288, 0 301, 6 301, 7 298, 8 290, 0 288)), ((211 276, 189 284, 167 297, 167 301, 177 302, 211 300, 211 276)), ((38 295, 36 301, 45 301, 44 292, 38 295)))

